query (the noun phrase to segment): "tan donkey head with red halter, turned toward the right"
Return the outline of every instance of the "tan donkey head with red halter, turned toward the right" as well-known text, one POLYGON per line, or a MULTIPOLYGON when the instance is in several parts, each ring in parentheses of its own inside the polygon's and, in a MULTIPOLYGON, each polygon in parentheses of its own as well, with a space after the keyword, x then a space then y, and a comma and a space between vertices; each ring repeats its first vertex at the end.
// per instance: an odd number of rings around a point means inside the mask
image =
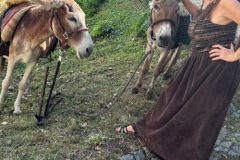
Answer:
POLYGON ((93 41, 85 22, 85 14, 74 0, 64 0, 53 14, 52 28, 56 37, 85 58, 93 51, 93 41), (64 42, 63 42, 64 41, 64 42))

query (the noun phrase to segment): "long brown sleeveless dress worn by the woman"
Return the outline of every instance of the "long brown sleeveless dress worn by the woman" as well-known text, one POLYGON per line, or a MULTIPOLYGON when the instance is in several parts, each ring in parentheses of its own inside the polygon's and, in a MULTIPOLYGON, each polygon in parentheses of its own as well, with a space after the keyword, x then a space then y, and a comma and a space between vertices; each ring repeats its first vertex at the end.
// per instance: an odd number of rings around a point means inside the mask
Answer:
POLYGON ((133 125, 165 160, 208 160, 240 80, 239 62, 212 61, 212 45, 230 48, 237 24, 214 24, 201 10, 189 27, 192 52, 157 104, 133 125))

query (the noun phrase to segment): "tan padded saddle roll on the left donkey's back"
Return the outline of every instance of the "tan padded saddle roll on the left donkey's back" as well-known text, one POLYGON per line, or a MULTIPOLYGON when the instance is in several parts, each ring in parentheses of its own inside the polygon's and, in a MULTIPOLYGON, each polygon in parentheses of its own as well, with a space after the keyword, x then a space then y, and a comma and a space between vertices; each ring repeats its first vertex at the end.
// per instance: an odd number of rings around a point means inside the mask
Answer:
POLYGON ((18 22, 31 7, 29 3, 21 3, 11 7, 5 13, 1 24, 1 38, 4 42, 11 40, 18 22))

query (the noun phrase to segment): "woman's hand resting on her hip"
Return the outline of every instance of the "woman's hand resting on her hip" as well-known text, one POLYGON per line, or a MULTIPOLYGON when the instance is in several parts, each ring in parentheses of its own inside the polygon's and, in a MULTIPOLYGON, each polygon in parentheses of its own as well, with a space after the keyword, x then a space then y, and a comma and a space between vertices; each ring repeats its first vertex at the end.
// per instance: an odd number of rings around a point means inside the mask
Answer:
POLYGON ((234 51, 234 46, 231 44, 231 48, 225 48, 222 45, 212 46, 212 50, 209 52, 212 61, 223 60, 226 62, 235 62, 239 60, 239 54, 234 51))

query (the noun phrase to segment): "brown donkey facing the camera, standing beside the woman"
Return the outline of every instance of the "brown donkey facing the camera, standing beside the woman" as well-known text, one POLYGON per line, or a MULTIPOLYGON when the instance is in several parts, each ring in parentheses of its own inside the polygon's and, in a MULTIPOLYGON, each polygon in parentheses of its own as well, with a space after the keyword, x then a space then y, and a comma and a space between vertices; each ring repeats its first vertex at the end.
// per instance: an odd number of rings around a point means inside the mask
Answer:
MULTIPOLYGON (((182 20, 181 17, 187 17, 188 15, 188 13, 179 7, 176 0, 152 0, 150 2, 150 8, 152 10, 151 22, 147 31, 148 44, 146 47, 146 54, 148 54, 148 56, 144 62, 140 77, 132 89, 133 94, 139 92, 144 75, 149 71, 153 54, 155 51, 158 52, 160 57, 146 93, 147 99, 151 99, 153 96, 153 88, 157 77, 161 73, 164 73, 163 75, 167 77, 179 57, 179 43, 183 42, 181 42, 181 38, 178 36, 181 32, 185 32, 183 34, 187 36, 187 25, 183 26, 185 27, 184 29, 180 25, 180 21, 182 20)), ((189 39, 186 43, 189 43, 189 39)))

